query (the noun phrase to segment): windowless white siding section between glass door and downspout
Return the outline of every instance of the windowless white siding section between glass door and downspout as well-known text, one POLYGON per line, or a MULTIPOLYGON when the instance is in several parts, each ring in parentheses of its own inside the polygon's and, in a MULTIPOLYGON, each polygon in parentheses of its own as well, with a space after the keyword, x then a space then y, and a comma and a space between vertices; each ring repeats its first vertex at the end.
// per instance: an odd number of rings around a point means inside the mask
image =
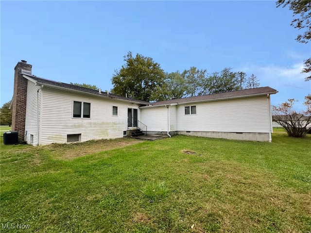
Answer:
POLYGON ((148 131, 167 131, 167 108, 165 106, 141 108, 141 122, 147 125, 148 131))

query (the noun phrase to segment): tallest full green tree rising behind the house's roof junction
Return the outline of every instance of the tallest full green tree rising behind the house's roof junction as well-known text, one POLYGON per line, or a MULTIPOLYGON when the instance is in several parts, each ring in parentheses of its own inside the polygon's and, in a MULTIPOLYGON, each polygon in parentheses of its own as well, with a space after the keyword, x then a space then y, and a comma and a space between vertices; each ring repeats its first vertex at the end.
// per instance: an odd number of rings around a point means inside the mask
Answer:
POLYGON ((111 81, 111 92, 117 95, 135 98, 144 101, 160 100, 161 86, 164 83, 165 73, 160 64, 151 57, 128 52, 124 57, 125 64, 115 70, 111 81))

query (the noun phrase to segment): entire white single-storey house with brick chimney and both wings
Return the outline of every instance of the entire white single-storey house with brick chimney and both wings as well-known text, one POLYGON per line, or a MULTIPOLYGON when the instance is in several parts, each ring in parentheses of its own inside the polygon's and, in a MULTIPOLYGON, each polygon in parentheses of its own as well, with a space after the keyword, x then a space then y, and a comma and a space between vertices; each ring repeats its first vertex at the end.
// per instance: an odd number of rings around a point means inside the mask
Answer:
POLYGON ((28 144, 121 138, 140 125, 151 134, 271 141, 270 87, 149 103, 42 79, 31 68, 17 63, 12 99, 12 131, 28 144))

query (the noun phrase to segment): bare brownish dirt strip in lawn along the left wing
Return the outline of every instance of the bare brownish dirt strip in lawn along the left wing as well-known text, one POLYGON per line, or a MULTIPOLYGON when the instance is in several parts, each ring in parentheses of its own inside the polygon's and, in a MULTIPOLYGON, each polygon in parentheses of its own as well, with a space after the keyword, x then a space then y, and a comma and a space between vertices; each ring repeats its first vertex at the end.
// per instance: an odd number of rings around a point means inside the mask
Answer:
POLYGON ((133 138, 120 138, 110 140, 103 139, 92 140, 82 143, 51 144, 46 146, 46 149, 52 151, 57 158, 74 159, 87 154, 94 154, 106 150, 113 150, 116 148, 122 148, 141 142, 143 142, 143 140, 137 140, 133 138))

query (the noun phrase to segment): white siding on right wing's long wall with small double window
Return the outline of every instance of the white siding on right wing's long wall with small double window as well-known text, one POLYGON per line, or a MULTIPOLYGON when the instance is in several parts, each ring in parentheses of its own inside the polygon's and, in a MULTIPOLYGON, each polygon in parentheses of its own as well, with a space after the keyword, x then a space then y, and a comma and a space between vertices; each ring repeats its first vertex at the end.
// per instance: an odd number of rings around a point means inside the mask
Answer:
POLYGON ((178 131, 269 133, 267 96, 196 103, 196 115, 177 105, 178 131))

